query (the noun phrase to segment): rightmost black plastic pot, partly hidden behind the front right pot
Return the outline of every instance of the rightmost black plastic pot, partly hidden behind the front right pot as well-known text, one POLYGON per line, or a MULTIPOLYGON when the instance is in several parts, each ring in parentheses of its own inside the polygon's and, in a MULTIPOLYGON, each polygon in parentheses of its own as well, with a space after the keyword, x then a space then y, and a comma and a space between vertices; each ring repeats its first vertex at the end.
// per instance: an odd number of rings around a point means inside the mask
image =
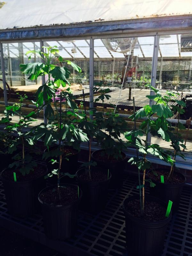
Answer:
MULTIPOLYGON (((156 170, 158 172, 158 170, 156 170)), ((162 171, 162 170, 161 170, 162 171)), ((164 172, 169 172, 169 170, 164 169, 164 172)), ((149 171, 150 172, 150 171, 149 171)), ((149 173, 148 172, 148 173, 149 173)), ((180 203, 180 197, 181 192, 183 189, 183 186, 186 182, 186 178, 183 174, 179 172, 175 172, 178 175, 180 175, 185 181, 180 184, 164 184, 158 181, 155 181, 152 179, 152 181, 156 184, 154 188, 149 188, 149 193, 151 196, 156 196, 163 200, 165 203, 168 204, 169 200, 173 202, 172 204, 172 212, 175 213, 178 210, 179 203, 180 203)))

